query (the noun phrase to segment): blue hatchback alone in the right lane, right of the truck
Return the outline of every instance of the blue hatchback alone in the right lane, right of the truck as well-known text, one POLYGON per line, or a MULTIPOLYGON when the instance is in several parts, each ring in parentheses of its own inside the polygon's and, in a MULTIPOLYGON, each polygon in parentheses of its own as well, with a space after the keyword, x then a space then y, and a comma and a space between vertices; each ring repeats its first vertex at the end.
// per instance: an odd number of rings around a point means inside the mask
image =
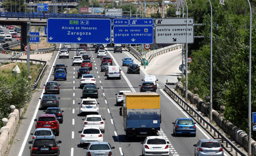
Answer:
POLYGON ((196 127, 195 122, 191 118, 178 118, 173 124, 173 135, 191 134, 195 137, 196 127))

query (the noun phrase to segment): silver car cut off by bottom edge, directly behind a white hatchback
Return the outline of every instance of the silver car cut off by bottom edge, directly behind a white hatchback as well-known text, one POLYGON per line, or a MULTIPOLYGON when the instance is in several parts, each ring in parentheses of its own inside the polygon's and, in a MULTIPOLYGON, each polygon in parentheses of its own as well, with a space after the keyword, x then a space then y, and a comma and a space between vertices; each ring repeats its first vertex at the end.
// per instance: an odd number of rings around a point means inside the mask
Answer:
POLYGON ((86 148, 86 156, 88 155, 101 155, 101 156, 110 156, 113 155, 112 149, 108 142, 92 142, 86 148))

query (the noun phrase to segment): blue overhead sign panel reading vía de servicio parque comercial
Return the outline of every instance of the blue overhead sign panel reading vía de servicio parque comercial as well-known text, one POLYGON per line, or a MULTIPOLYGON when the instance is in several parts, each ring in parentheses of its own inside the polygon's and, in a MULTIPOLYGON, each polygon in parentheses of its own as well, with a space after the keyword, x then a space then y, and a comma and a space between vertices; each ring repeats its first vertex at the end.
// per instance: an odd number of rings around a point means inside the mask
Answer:
POLYGON ((115 44, 152 44, 153 30, 153 26, 114 26, 113 42, 115 44))

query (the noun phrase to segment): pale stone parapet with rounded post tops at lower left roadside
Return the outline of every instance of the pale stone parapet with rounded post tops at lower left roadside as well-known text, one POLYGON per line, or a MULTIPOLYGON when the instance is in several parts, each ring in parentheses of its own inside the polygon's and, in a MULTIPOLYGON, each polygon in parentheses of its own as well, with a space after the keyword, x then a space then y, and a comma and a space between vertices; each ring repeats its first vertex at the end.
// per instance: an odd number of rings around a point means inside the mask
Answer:
POLYGON ((21 113, 18 109, 15 109, 14 105, 10 106, 11 113, 7 118, 2 119, 3 127, 0 129, 0 156, 3 156, 7 150, 8 144, 11 141, 11 137, 14 135, 16 127, 18 125, 20 116, 24 109, 21 109, 21 113))

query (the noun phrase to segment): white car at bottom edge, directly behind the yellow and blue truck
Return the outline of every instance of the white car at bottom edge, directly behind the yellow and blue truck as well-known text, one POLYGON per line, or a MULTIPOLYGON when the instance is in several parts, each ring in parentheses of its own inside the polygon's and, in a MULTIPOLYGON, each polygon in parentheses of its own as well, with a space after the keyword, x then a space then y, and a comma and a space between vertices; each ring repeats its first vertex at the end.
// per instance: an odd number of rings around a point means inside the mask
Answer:
POLYGON ((147 136, 142 144, 142 155, 164 155, 169 156, 169 142, 163 136, 147 136))

